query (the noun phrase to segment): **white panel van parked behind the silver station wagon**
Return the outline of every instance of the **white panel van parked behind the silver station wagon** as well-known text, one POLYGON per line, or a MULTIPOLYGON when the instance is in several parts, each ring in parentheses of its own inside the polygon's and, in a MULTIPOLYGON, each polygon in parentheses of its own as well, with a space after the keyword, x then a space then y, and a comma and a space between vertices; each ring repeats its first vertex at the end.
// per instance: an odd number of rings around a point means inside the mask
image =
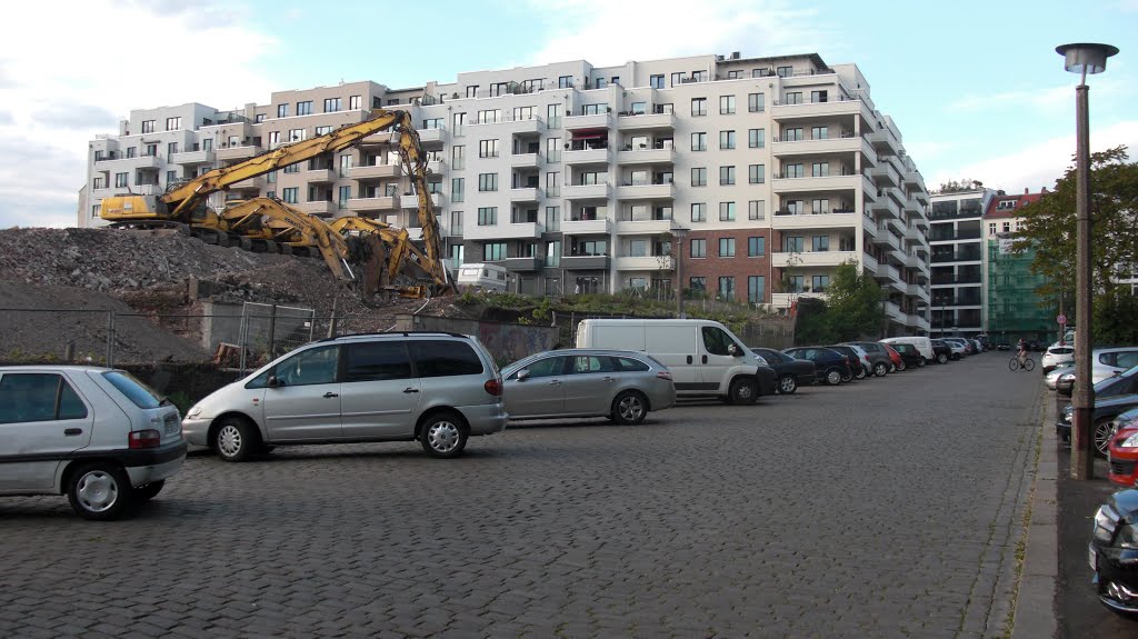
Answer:
POLYGON ((577 348, 640 350, 671 371, 679 397, 753 404, 775 391, 775 372, 710 320, 583 320, 577 348))

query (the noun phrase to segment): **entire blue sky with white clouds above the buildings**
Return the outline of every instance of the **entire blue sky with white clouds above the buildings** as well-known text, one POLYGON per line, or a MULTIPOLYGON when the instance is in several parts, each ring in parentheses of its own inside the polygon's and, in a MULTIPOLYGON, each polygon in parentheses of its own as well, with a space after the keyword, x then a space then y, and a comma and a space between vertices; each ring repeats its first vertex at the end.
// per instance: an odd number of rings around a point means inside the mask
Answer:
POLYGON ((1074 152, 1055 47, 1122 49, 1090 78, 1091 147, 1138 160, 1138 0, 63 0, 5 7, 0 227, 71 226, 88 143, 131 109, 265 103, 274 90, 586 59, 741 51, 857 64, 930 189, 1052 186, 1074 152), (651 7, 651 10, 644 10, 651 7), (23 27, 22 27, 22 26, 23 27))

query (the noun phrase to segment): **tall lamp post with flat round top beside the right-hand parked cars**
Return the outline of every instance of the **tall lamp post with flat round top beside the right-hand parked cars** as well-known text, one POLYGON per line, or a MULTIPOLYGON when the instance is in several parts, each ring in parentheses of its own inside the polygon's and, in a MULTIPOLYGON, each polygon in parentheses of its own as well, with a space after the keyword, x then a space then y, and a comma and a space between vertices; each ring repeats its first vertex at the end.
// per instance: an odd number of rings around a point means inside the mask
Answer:
POLYGON ((1063 56, 1063 68, 1080 74, 1075 86, 1075 326, 1081 339, 1074 340, 1074 391, 1071 405, 1074 413, 1072 423, 1071 476, 1089 480, 1095 476, 1095 442, 1091 437, 1091 413, 1095 409, 1094 385, 1091 384, 1090 314, 1091 283, 1090 256, 1090 114, 1088 111, 1087 74, 1106 70, 1106 58, 1119 52, 1110 44, 1063 44, 1055 52, 1063 56))

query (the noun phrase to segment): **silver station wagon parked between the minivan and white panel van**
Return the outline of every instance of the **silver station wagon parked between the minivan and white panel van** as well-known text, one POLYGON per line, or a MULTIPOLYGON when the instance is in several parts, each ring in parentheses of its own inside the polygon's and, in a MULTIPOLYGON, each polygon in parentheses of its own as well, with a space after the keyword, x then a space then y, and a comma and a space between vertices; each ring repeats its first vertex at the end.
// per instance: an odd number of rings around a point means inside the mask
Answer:
POLYGON ((676 403, 671 373, 643 352, 568 348, 502 370, 511 420, 609 417, 638 424, 676 403))

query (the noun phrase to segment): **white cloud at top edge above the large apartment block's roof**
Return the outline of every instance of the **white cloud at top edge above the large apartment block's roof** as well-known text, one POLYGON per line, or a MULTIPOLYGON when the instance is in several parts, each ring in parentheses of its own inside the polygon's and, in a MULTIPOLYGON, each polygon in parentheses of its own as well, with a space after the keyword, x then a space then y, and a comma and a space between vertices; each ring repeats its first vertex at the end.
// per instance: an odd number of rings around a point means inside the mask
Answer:
POLYGON ((657 0, 651 5, 529 0, 529 5, 533 15, 546 23, 546 44, 529 64, 586 59, 610 66, 709 52, 809 53, 820 52, 824 45, 833 50, 840 39, 817 10, 782 0, 657 0))

